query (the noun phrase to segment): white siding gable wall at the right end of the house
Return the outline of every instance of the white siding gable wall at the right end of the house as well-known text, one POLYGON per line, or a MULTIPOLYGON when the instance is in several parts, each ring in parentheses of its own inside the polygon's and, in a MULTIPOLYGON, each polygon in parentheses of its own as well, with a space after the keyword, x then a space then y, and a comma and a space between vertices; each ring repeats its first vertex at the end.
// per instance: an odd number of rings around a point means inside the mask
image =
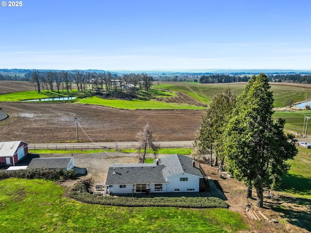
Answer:
POLYGON ((181 173, 168 177, 166 180, 166 192, 199 192, 200 177, 193 176, 188 173, 181 173), (188 181, 180 181, 180 178, 188 178, 188 181), (194 188, 193 191, 187 191, 187 189, 192 188, 194 188), (179 189, 179 191, 175 191, 175 189, 179 189))

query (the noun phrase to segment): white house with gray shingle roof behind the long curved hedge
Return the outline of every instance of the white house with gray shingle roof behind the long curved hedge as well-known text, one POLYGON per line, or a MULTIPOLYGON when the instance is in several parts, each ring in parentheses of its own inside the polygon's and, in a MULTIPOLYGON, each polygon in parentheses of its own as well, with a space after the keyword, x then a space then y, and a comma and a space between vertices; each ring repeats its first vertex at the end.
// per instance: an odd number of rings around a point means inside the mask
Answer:
POLYGON ((174 154, 153 164, 110 166, 106 179, 111 194, 207 191, 208 183, 191 157, 174 154))

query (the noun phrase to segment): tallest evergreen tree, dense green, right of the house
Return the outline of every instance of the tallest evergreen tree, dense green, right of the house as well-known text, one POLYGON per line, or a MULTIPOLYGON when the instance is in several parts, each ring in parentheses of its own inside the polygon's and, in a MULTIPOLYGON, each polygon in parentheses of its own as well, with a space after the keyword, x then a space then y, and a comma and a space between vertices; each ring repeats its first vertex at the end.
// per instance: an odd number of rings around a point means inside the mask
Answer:
POLYGON ((257 192, 257 206, 263 207, 263 184, 272 186, 289 170, 286 160, 297 154, 296 139, 283 132, 285 120, 272 118, 273 93, 267 76, 253 76, 237 99, 225 130, 225 155, 238 180, 257 192))

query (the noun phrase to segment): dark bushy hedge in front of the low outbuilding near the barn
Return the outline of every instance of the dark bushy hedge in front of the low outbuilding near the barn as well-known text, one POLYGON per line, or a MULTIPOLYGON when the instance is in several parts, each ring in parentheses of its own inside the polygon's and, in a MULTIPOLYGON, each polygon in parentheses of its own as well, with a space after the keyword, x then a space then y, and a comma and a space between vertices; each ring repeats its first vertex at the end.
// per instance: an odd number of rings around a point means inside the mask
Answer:
MULTIPOLYGON (((70 171, 70 170, 69 170, 70 171)), ((62 169, 50 170, 47 168, 31 168, 21 169, 16 171, 6 172, 0 170, 0 180, 8 178, 24 178, 24 179, 44 179, 44 180, 59 180, 61 178, 71 177, 71 173, 62 169), (68 175, 67 175, 68 174, 68 175)))

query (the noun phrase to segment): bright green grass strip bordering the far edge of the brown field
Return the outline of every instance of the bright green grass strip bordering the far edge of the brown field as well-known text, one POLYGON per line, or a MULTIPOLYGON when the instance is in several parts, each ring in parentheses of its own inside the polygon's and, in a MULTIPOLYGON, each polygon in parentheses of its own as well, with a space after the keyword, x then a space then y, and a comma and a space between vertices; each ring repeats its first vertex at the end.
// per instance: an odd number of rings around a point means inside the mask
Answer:
POLYGON ((187 104, 156 102, 152 100, 106 100, 99 97, 79 99, 80 103, 104 105, 121 109, 205 109, 187 104))

